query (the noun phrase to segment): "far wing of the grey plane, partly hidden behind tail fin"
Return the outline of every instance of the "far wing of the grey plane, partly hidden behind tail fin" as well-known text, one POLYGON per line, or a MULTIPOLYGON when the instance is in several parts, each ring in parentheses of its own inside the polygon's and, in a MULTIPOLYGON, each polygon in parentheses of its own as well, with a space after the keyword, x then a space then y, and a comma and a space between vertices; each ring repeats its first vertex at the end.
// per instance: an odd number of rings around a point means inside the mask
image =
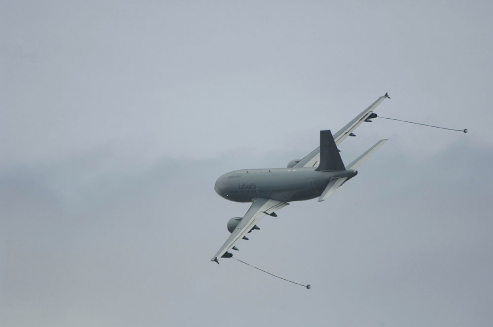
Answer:
MULTIPOLYGON (((349 136, 362 122, 364 122, 373 113, 373 110, 385 99, 390 98, 386 93, 384 96, 378 98, 373 102, 368 108, 363 110, 359 115, 354 117, 354 119, 344 126, 340 131, 334 134, 334 141, 336 145, 339 145, 346 137, 349 136)), ((294 167, 298 168, 312 168, 317 167, 320 162, 320 147, 310 152, 305 158, 303 158, 299 163, 296 163, 294 167)))

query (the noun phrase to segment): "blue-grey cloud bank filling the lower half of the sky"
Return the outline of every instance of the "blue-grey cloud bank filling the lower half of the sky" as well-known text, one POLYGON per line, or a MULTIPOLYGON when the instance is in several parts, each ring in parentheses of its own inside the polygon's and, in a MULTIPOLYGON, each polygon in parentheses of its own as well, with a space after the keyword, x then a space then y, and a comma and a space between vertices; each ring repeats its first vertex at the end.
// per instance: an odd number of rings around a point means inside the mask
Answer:
POLYGON ((229 216, 247 208, 212 189, 239 159, 162 157, 115 171, 114 152, 2 172, 5 326, 176 324, 191 308, 187 323, 219 326, 245 310, 267 323, 316 323, 327 307, 351 324, 443 322, 445 313, 452 323, 459 307, 458 321, 488 317, 478 304, 491 294, 484 202, 492 184, 464 167, 480 171, 491 148, 458 142, 413 163, 405 151, 382 151, 327 203, 294 202, 263 219, 236 255, 310 291, 209 262, 229 216), (102 162, 113 164, 88 178, 102 162))

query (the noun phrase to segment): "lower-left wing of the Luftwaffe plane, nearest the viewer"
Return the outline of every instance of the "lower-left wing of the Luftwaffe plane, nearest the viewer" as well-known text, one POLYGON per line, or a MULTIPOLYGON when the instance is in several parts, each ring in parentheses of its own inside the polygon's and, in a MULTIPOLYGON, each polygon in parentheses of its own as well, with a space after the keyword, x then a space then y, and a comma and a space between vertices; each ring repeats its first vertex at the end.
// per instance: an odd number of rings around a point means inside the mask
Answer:
POLYGON ((248 211, 246 211, 245 216, 243 216, 236 229, 231 233, 231 235, 229 235, 226 242, 224 242, 211 261, 219 263, 217 258, 221 258, 222 255, 235 246, 235 244, 238 243, 238 241, 241 240, 243 236, 245 236, 246 233, 248 233, 263 216, 266 214, 270 215, 275 210, 281 209, 288 204, 289 203, 267 198, 254 198, 253 203, 248 211))

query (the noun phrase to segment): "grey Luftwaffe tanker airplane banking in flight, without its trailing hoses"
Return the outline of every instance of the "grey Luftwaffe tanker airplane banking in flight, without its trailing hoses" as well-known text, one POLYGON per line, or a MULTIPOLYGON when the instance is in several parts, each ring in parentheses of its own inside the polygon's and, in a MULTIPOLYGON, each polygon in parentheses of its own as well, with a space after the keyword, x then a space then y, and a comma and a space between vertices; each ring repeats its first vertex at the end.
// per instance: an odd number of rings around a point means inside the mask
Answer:
POLYGON ((368 159, 387 139, 375 143, 366 152, 345 166, 337 148, 346 137, 356 136, 353 131, 363 122, 378 117, 373 110, 385 99, 386 93, 375 100, 340 131, 332 135, 330 130, 320 131, 320 146, 301 160, 292 160, 287 168, 234 170, 220 176, 214 185, 215 192, 227 200, 252 202, 245 216, 231 218, 227 223, 231 235, 211 261, 231 258, 229 250, 238 251, 236 244, 248 240, 246 234, 254 229, 265 215, 277 217, 275 211, 288 202, 318 197, 324 201, 338 187, 356 176, 357 168, 368 159))

